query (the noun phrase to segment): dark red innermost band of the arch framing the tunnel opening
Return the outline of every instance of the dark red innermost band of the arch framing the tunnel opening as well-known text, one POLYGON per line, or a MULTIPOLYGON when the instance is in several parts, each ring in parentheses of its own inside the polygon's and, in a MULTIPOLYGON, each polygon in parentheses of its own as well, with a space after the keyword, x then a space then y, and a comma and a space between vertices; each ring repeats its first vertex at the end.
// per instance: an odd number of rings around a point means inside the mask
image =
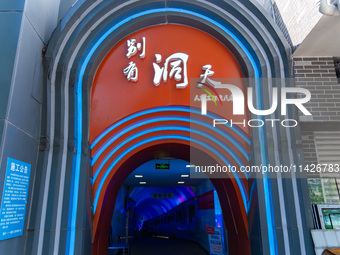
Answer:
MULTIPOLYGON (((111 221, 115 210, 115 204, 117 204, 117 197, 119 191, 123 187, 125 180, 129 178, 128 176, 133 173, 134 169, 145 164, 146 162, 153 162, 155 155, 167 155, 167 158, 176 158, 184 160, 185 162, 189 162, 190 149, 192 150, 189 145, 181 143, 167 142, 163 144, 152 145, 150 147, 141 149, 136 154, 131 155, 127 160, 125 160, 123 164, 120 165, 119 169, 111 176, 108 186, 105 189, 105 193, 103 194, 101 204, 98 205, 97 208, 99 211, 99 216, 97 219, 95 219, 97 220, 97 222, 95 222, 97 228, 95 228, 93 254, 106 254, 108 251, 110 242, 108 237, 110 236, 110 227, 112 226, 111 221)), ((202 152, 197 151, 196 153, 200 153, 202 158, 207 159, 207 156, 203 155, 202 152)), ((214 159, 211 160, 214 161, 214 159)), ((180 171, 177 171, 177 173, 178 172, 180 171)), ((176 175, 176 173, 174 173, 174 175, 176 175)), ((154 177, 154 179, 154 181, 157 181, 157 177, 154 177)), ((228 231, 227 245, 229 254, 250 254, 247 214, 242 203, 242 198, 239 199, 240 194, 237 184, 232 180, 233 179, 230 178, 211 179, 211 183, 217 192, 219 202, 221 204, 223 221, 228 231)), ((146 182, 148 181, 146 180, 146 182)), ((133 185, 132 183, 133 181, 131 180, 128 182, 130 185, 133 185)), ((162 183, 162 181, 159 180, 159 183, 162 183)), ((199 184, 201 184, 201 182, 199 182, 198 179, 198 187, 200 186, 199 184)), ((210 186, 210 188, 212 186, 210 186)), ((192 194, 191 198, 195 198, 195 194, 192 194)), ((211 221, 211 219, 208 220, 211 221)), ((214 220, 215 218, 212 221, 214 222, 214 220)), ((122 228, 122 226, 116 227, 122 228)), ((154 233, 157 233, 157 231, 154 231, 154 233)), ((207 238, 207 235, 205 237, 207 238)))

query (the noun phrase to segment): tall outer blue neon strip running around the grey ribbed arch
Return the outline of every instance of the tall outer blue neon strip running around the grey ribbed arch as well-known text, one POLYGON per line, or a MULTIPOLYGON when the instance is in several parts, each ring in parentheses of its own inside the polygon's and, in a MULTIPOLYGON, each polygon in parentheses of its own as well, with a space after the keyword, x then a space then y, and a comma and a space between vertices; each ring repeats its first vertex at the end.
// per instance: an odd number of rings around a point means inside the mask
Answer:
MULTIPOLYGON (((260 83, 258 81, 258 78, 261 78, 261 74, 259 72, 260 70, 260 65, 258 66, 255 59, 253 58, 252 54, 249 52, 248 48, 243 44, 243 42, 233 33, 231 32, 228 28, 225 26, 221 25, 217 21, 202 15, 200 13, 196 13, 193 11, 185 10, 182 8, 156 8, 156 9, 151 9, 147 11, 142 11, 140 13, 136 13, 131 15, 128 18, 125 18, 124 20, 118 22, 115 24, 111 29, 109 29, 104 35, 102 35, 98 41, 92 46, 91 50, 88 52, 86 58, 81 64, 81 68, 79 69, 78 73, 78 80, 76 84, 76 121, 77 123, 75 124, 75 136, 76 136, 76 148, 77 148, 77 156, 76 156, 76 166, 75 166, 75 179, 74 179, 74 190, 73 190, 73 204, 72 204, 72 228, 71 229, 71 237, 70 237, 70 249, 69 249, 69 255, 74 254, 74 242, 75 242, 75 224, 76 224, 76 215, 77 215, 77 207, 78 207, 78 190, 79 190, 79 174, 80 174, 80 161, 81 161, 81 141, 82 141, 82 82, 83 82, 83 77, 85 73, 85 69, 93 56, 94 52, 97 50, 99 45, 107 38, 109 34, 111 34, 113 31, 115 31, 117 28, 120 26, 124 25, 125 23, 145 16, 149 14, 154 14, 154 13, 163 13, 163 12, 174 12, 174 13, 185 13, 189 14, 195 17, 202 18, 203 20, 206 20, 215 26, 219 27, 222 29, 224 32, 226 32, 230 37, 232 37, 235 42, 242 48, 246 56, 251 62, 251 65, 254 68, 254 73, 255 73, 255 78, 256 78, 256 92, 257 92, 257 102, 261 102, 261 97, 262 97, 262 89, 260 87, 260 83)), ((265 137, 265 132, 264 132, 265 127, 259 128, 259 136, 260 136, 260 150, 261 150, 261 160, 264 165, 267 165, 267 155, 266 155, 266 137, 265 137)), ((276 240, 276 232, 275 232, 275 226, 274 226, 274 219, 272 218, 272 214, 270 213, 270 210, 272 208, 272 201, 270 199, 270 194, 271 194, 271 187, 268 183, 267 178, 263 178, 264 182, 264 191, 265 191, 265 206, 266 206, 266 216, 267 216, 267 225, 268 225, 268 236, 269 236, 269 242, 270 244, 270 254, 278 254, 277 250, 277 240, 276 240), (268 196, 269 197, 268 197, 268 196)))

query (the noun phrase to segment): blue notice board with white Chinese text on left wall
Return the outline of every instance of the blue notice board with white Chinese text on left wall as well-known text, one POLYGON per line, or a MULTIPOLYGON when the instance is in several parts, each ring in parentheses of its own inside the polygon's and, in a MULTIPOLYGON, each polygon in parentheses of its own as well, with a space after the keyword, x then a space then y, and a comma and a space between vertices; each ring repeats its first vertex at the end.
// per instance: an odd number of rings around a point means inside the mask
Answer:
POLYGON ((0 211, 0 240, 22 235, 31 165, 8 158, 0 211))

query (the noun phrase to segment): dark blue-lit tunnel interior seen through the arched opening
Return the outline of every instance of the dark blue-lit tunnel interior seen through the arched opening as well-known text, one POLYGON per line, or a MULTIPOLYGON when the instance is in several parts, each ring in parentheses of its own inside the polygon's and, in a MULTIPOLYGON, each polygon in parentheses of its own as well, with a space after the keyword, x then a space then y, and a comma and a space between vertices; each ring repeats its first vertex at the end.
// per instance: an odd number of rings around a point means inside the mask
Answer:
POLYGON ((127 177, 116 199, 110 246, 129 243, 134 247, 152 240, 144 247, 151 252, 160 238, 163 245, 169 240, 189 240, 193 243, 186 243, 185 248, 199 246, 197 254, 206 254, 207 227, 217 227, 221 247, 227 252, 227 230, 217 192, 209 178, 190 178, 188 165, 182 159, 154 159, 127 177))

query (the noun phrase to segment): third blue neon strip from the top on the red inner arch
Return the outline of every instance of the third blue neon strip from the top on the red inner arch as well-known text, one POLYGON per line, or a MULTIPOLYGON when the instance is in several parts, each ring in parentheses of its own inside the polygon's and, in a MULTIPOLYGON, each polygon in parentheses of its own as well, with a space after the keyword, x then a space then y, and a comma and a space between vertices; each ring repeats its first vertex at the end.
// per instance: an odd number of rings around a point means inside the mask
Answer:
MULTIPOLYGON (((125 139, 124 141, 122 141, 121 143, 119 143, 116 147, 114 147, 106 156, 105 158, 103 159, 103 161, 101 162, 100 166, 97 168, 96 172, 94 173, 94 176, 93 176, 93 182, 92 184, 96 181, 101 169, 103 168, 103 166, 106 164, 106 162, 112 157, 113 154, 115 154, 119 149, 121 149, 124 145, 126 145, 127 143, 129 142, 132 142, 134 139, 136 138, 139 138, 143 135, 146 135, 146 134, 150 134, 150 133, 153 133, 153 132, 158 132, 158 131, 174 131, 174 130, 179 130, 179 131, 186 131, 186 132, 192 132, 192 133, 195 133, 195 134, 199 134, 203 137, 207 137, 209 138, 211 141, 214 141, 216 144, 218 144, 219 146, 221 146, 225 151, 227 151, 233 159, 235 159, 235 161, 237 162, 237 164, 241 167, 243 165, 245 165, 242 160, 239 158, 239 156, 236 154, 235 155, 235 152, 230 149, 230 147, 224 145, 223 143, 221 143, 218 139, 214 138, 213 136, 207 134, 207 133, 204 133, 204 132, 201 132, 199 131, 198 129, 194 129, 194 128, 189 128, 187 126, 176 126, 176 125, 164 125, 164 126, 161 126, 161 127, 153 127, 153 128, 148 128, 148 129, 145 129, 143 131, 140 131, 138 133, 135 133, 134 135, 132 136, 129 136, 129 138, 125 139)), ((229 161, 228 161, 229 162, 229 161)), ((230 163, 230 162, 229 162, 230 163)), ((230 164, 231 165, 231 164, 230 164)), ((235 176, 235 178, 240 178, 239 174, 238 173, 235 173, 237 176, 235 176)), ((246 174, 246 173, 245 173, 246 174)), ((246 175, 247 177, 247 175, 246 175)), ((101 181, 105 182, 105 180, 101 179, 101 181)), ((100 192, 100 190, 99 190, 100 192)))

